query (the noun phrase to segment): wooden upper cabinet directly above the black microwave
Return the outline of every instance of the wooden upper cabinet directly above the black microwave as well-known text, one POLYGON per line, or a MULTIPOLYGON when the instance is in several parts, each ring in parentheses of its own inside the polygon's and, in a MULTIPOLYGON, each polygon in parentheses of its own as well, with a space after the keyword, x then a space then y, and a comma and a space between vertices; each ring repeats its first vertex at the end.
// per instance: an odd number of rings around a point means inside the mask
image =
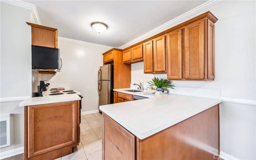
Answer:
POLYGON ((27 22, 31 26, 32 45, 57 48, 57 29, 27 22))

